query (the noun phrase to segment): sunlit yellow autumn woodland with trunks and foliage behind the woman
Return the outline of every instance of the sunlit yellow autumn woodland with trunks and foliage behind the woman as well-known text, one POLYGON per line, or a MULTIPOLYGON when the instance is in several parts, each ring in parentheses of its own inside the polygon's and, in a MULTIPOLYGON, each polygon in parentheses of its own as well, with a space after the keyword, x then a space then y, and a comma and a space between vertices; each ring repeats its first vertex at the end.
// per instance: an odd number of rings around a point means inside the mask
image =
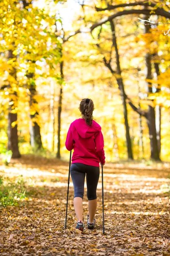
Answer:
POLYGON ((108 161, 169 160, 168 2, 0 7, 1 153, 68 159, 69 124, 89 97, 108 161))

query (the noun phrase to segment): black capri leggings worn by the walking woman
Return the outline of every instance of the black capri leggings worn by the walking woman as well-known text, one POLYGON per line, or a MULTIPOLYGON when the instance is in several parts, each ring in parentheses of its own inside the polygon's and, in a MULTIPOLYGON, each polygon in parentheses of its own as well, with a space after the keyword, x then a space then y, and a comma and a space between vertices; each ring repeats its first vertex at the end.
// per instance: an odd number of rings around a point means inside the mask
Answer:
POLYGON ((74 198, 80 197, 83 199, 86 174, 88 200, 96 199, 96 189, 100 174, 99 167, 89 166, 84 163, 72 163, 70 172, 74 185, 74 198))

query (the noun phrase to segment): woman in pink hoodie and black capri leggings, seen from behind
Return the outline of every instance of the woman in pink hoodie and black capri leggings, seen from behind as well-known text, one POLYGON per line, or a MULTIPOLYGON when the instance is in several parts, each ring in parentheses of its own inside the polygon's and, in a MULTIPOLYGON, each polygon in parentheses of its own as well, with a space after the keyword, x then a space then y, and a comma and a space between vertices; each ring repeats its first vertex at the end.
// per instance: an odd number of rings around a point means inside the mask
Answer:
POLYGON ((83 232, 82 200, 84 196, 85 174, 88 197, 88 229, 94 229, 97 208, 96 189, 99 181, 99 163, 105 165, 104 140, 101 127, 93 120, 94 103, 91 99, 82 99, 79 105, 82 118, 71 123, 65 146, 74 148, 71 164, 71 178, 74 185, 74 209, 77 227, 83 232))

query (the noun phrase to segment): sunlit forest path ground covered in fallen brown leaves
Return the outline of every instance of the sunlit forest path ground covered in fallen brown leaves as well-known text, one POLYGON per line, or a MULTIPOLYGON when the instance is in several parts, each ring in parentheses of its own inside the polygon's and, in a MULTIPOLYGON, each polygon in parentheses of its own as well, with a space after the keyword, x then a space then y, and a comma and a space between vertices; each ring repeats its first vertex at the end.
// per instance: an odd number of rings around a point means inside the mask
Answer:
MULTIPOLYGON (((65 224, 68 163, 22 157, 0 175, 23 175, 30 196, 20 207, 0 209, 0 255, 170 255, 168 165, 106 164, 104 168, 105 235, 102 234, 102 184, 98 184, 96 228, 75 233, 73 185, 65 224)), ((88 204, 84 196, 84 223, 88 204)))

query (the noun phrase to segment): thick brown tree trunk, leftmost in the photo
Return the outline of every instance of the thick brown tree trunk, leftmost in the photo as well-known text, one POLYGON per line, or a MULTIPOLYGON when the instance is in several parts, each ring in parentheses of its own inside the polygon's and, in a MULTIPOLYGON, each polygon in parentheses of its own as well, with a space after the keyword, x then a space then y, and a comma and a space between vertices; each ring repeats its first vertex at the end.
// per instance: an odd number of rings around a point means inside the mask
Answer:
MULTIPOLYGON (((8 51, 8 60, 15 58, 13 55, 13 50, 8 51)), ((17 71, 13 67, 10 72, 10 76, 12 76, 15 81, 17 80, 17 71)), ((12 90, 12 87, 9 82, 9 88, 13 93, 10 94, 10 102, 9 102, 9 112, 8 112, 8 150, 12 151, 12 158, 20 158, 20 152, 18 148, 18 133, 17 133, 17 111, 16 111, 16 103, 17 103, 17 92, 12 90), (14 102, 14 103, 12 103, 14 102), (15 113, 11 113, 11 111, 15 111, 15 113), (15 126, 12 127, 12 123, 16 122, 15 126)))

